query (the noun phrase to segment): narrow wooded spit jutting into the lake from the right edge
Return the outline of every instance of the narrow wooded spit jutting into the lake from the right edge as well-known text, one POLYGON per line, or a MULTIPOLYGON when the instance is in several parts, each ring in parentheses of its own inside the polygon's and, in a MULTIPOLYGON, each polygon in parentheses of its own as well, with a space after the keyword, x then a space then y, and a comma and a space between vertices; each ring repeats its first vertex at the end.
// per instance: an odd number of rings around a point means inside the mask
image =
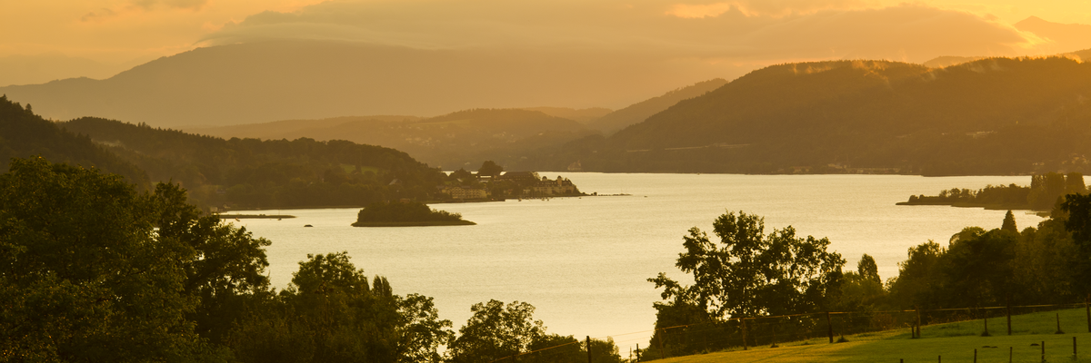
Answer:
POLYGON ((910 195, 909 202, 899 205, 952 205, 958 207, 985 207, 992 209, 1050 210, 1066 194, 1087 193, 1083 174, 1047 172, 1031 177, 1030 186, 986 185, 973 191, 952 187, 939 195, 910 195))

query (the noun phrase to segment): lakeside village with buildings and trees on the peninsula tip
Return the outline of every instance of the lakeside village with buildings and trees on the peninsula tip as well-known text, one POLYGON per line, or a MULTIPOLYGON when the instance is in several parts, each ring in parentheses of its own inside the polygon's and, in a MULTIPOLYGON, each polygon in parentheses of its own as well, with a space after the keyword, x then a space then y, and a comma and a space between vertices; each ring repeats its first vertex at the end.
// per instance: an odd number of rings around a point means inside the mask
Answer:
MULTIPOLYGON (((584 194, 567 178, 541 177, 535 171, 507 171, 501 173, 477 173, 459 169, 451 173, 443 185, 436 185, 440 202, 491 202, 509 198, 551 198, 558 196, 583 196, 584 194)), ((591 194, 595 195, 595 194, 591 194)))

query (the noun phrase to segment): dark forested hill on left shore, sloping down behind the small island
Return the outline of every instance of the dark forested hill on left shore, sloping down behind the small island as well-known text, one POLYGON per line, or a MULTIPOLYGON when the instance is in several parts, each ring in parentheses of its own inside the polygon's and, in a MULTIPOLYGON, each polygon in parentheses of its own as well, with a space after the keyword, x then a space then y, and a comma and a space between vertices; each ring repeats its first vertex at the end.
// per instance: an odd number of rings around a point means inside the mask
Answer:
POLYGON ((97 118, 61 123, 146 170, 180 182, 191 199, 229 208, 365 206, 428 201, 445 177, 395 149, 347 141, 224 140, 97 118))

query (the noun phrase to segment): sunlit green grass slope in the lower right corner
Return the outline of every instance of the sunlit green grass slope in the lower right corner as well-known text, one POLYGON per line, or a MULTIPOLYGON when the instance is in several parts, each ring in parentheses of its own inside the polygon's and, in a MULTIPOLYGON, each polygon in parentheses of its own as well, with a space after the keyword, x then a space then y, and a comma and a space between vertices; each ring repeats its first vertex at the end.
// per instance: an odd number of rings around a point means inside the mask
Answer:
MULTIPOLYGON (((751 347, 750 350, 657 360, 663 363, 705 362, 1042 362, 1045 342, 1047 362, 1091 362, 1091 334, 1083 308, 1016 315, 1011 336, 1004 318, 991 318, 991 337, 981 337, 982 320, 924 326, 922 338, 910 339, 909 329, 846 336, 848 342, 829 343, 828 338, 780 343, 779 348, 751 347), (1062 330, 1056 315, 1060 314, 1062 330), (1077 339, 1078 360, 1072 356, 1072 337, 1077 339), (995 347, 995 348, 985 348, 995 347)), ((650 359, 647 358, 647 359, 650 359)))

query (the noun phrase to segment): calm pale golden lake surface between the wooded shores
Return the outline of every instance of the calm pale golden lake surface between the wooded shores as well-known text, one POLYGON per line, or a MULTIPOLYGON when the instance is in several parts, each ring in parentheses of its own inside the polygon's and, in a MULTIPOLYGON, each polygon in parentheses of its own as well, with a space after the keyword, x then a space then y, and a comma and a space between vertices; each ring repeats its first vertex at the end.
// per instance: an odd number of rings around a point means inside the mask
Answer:
MULTIPOLYGON (((353 228, 358 209, 283 210, 298 218, 235 223, 273 241, 267 254, 277 288, 307 254, 348 251, 368 275, 386 276, 395 293, 434 298, 456 330, 475 303, 523 301, 537 307, 548 332, 611 336, 627 356, 628 348, 647 344, 655 324, 659 290, 647 279, 664 271, 686 280, 674 267, 682 237, 691 227, 711 234, 726 210, 764 216, 767 231, 793 226, 800 235, 828 237, 848 270, 870 254, 886 279, 898 274, 910 246, 946 245, 968 226, 998 228, 1005 214, 895 203, 951 187, 1030 183, 1030 177, 561 174, 586 193, 632 195, 432 205, 478 226, 353 228)), ((1016 213, 1019 228, 1041 220, 1016 213)))

